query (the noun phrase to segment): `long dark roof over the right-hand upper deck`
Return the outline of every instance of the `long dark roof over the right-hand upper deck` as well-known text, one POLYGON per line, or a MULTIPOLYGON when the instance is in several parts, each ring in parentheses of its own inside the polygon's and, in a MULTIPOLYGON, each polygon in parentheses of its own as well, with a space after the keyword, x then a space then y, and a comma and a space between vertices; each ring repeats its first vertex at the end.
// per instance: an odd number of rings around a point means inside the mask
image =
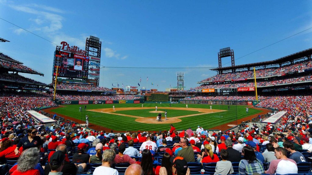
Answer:
POLYGON ((241 64, 241 65, 237 65, 237 66, 228 66, 228 67, 223 67, 223 68, 215 68, 215 69, 210 69, 210 70, 214 70, 214 71, 227 71, 227 70, 232 70, 232 69, 246 69, 246 68, 250 68, 250 67, 260 67, 260 66, 269 66, 269 65, 278 65, 278 64, 283 64, 283 63, 287 63, 289 61, 294 61, 297 59, 301 59, 307 56, 312 55, 312 48, 307 49, 307 50, 303 50, 300 52, 297 52, 295 54, 291 54, 279 59, 275 59, 272 61, 263 61, 263 62, 257 62, 257 63, 250 63, 250 64, 241 64))

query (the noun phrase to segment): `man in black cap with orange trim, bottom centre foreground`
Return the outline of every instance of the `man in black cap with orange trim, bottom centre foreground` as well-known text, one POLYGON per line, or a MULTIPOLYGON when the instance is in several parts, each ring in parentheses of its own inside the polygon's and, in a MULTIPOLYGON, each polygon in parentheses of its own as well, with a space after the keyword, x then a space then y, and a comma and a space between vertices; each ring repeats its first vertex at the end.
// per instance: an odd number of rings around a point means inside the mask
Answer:
MULTIPOLYGON (((188 163, 183 157, 171 157, 170 163, 172 163, 172 173, 174 175, 189 175, 191 173, 188 163)), ((161 174, 159 173, 159 175, 161 174)))

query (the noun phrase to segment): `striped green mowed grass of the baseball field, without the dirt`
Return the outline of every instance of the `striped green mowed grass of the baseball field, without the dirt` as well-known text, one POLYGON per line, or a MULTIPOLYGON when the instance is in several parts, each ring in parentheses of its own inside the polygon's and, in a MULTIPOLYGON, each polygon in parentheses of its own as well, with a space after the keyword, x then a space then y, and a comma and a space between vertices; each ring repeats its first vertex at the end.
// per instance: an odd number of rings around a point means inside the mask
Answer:
MULTIPOLYGON (((85 115, 89 116, 89 122, 95 125, 104 126, 106 128, 110 128, 114 131, 125 131, 125 130, 146 130, 146 131, 158 131, 158 130, 169 130, 170 127, 168 124, 145 124, 139 123, 135 121, 133 117, 126 116, 118 116, 113 114, 105 114, 100 112, 93 111, 85 111, 84 106, 87 106, 88 109, 101 109, 101 108, 112 108, 113 105, 115 108, 118 107, 141 107, 140 104, 90 104, 90 105, 64 105, 66 107, 59 107, 53 109, 53 112, 58 114, 62 114, 65 116, 70 116, 76 119, 81 120, 81 123, 85 123, 85 115), (82 107, 82 112, 79 112, 79 107, 82 107)), ((162 103, 161 105, 155 103, 143 103, 144 107, 155 107, 158 106, 158 110, 163 111, 159 108, 161 107, 169 107, 168 103, 162 103)), ((184 108, 185 104, 171 104, 171 107, 182 107, 184 108)), ((180 118, 182 121, 179 123, 174 123, 173 125, 177 130, 185 130, 191 127, 196 130, 197 125, 202 126, 205 129, 216 127, 231 121, 236 121, 237 119, 241 119, 247 116, 251 116, 257 113, 260 113, 260 110, 249 108, 249 112, 246 113, 246 107, 243 105, 230 105, 230 110, 228 110, 228 105, 209 105, 209 104, 188 104, 189 108, 207 108, 209 109, 212 106, 212 109, 226 110, 223 112, 217 112, 212 114, 203 114, 198 116, 189 116, 180 118)), ((134 115, 138 110, 134 110, 132 114, 134 115)), ((172 110, 170 113, 168 112, 168 116, 172 116, 174 113, 181 112, 184 116, 184 110, 172 110), (182 111, 182 112, 181 112, 182 111)), ((131 111, 129 111, 131 113, 131 111)), ((193 111, 197 112, 197 111, 193 111)), ((157 113, 154 113, 157 116, 157 113)), ((152 113, 153 115, 153 113, 152 113)), ((163 115, 164 117, 164 115, 163 115)), ((155 117, 156 118, 156 117, 155 117)), ((240 123, 238 123, 240 124, 240 123)), ((222 128, 220 128, 222 130, 222 128)))

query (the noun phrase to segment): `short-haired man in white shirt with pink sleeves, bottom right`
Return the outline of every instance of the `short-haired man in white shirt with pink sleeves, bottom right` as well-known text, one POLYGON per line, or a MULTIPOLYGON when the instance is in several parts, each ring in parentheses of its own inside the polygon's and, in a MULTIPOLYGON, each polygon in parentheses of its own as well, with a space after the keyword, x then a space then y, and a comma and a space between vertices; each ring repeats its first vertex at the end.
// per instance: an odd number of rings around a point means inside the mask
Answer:
POLYGON ((287 158, 287 152, 284 148, 275 148, 275 156, 277 159, 272 160, 266 174, 296 174, 298 173, 297 163, 287 158))

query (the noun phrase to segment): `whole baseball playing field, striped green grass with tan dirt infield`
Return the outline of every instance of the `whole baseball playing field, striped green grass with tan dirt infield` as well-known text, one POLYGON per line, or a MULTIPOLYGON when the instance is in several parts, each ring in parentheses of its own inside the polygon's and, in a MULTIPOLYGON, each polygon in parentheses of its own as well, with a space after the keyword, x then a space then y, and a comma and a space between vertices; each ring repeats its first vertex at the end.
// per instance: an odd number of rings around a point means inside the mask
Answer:
MULTIPOLYGON (((240 124, 239 119, 263 111, 243 105, 230 105, 228 109, 228 105, 188 104, 187 108, 186 104, 169 106, 168 103, 139 103, 61 105, 49 112, 65 118, 67 116, 68 119, 75 119, 81 124, 85 124, 85 116, 88 115, 89 127, 96 130, 158 131, 169 130, 169 124, 173 124, 177 130, 185 130, 189 127, 196 129, 198 125, 204 129, 217 129, 225 124, 240 124), (85 106, 86 110, 84 110, 85 106), (158 106, 157 111, 155 106, 158 106), (79 107, 82 108, 81 112, 79 107), (246 107, 249 108, 248 113, 246 113, 246 107), (167 111, 167 120, 165 120, 165 111, 167 111), (156 121, 159 112, 162 114, 162 122, 156 121)), ((218 130, 223 130, 223 128, 218 130)))

